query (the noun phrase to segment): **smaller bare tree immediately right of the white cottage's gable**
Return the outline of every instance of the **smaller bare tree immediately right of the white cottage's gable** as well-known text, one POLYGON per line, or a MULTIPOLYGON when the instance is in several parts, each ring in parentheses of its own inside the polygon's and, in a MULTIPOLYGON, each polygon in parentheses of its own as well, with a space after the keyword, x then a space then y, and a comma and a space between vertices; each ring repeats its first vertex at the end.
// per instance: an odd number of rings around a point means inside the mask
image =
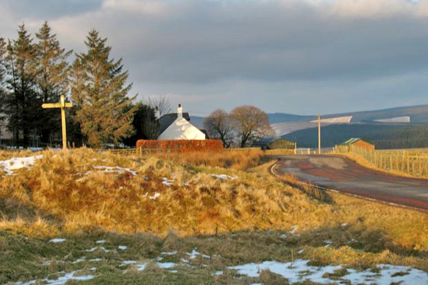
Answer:
POLYGON ((225 110, 217 109, 211 112, 204 120, 204 128, 209 137, 220 139, 224 148, 229 148, 233 141, 233 127, 231 117, 225 110))

